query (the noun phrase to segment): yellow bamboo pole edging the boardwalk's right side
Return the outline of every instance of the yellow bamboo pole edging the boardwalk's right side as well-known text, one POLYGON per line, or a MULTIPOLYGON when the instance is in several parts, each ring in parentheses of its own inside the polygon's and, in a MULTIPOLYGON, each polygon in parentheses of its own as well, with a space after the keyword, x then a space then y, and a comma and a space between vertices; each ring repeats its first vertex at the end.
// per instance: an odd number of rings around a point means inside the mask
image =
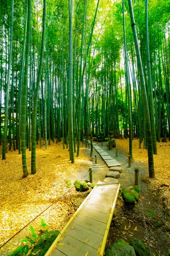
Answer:
POLYGON ((113 217, 114 208, 116 206, 116 200, 117 200, 117 197, 118 197, 118 194, 119 194, 119 189, 120 189, 120 183, 119 183, 119 186, 117 188, 116 196, 115 196, 114 201, 113 201, 111 213, 109 215, 108 223, 107 223, 107 226, 106 226, 106 229, 105 229, 105 234, 103 236, 102 245, 100 247, 99 256, 103 256, 103 254, 105 252, 105 245, 106 245, 106 241, 107 241, 107 238, 108 238, 109 228, 111 226, 111 221, 112 221, 112 217, 113 217))

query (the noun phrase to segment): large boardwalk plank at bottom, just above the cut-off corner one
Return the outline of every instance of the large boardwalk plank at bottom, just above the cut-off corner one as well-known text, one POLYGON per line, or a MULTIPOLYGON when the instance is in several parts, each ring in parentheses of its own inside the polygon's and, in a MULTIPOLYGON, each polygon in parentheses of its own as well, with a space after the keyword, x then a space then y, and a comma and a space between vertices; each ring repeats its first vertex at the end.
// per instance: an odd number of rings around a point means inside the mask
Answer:
POLYGON ((65 245, 57 245, 57 249, 67 256, 85 256, 87 252, 88 256, 94 256, 97 254, 96 249, 80 242, 79 240, 69 235, 65 235, 59 244, 65 245))

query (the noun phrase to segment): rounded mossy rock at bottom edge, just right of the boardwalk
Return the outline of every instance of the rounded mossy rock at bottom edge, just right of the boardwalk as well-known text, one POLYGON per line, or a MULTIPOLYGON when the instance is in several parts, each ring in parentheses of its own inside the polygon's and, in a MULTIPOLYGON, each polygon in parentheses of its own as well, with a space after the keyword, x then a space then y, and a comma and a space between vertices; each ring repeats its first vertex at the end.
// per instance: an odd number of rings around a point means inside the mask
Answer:
POLYGON ((136 254, 132 246, 119 239, 108 247, 105 256, 136 256, 136 254))

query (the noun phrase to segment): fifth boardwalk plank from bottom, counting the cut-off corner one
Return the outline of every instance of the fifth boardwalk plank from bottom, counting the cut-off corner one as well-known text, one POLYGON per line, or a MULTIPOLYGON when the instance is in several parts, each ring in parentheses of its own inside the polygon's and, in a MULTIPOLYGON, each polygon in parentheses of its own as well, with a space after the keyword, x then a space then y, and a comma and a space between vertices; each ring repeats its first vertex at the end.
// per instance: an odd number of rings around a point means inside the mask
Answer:
POLYGON ((92 218, 96 221, 101 221, 101 222, 108 222, 108 214, 102 213, 102 212, 96 212, 95 210, 95 205, 93 209, 88 209, 86 207, 82 207, 81 211, 79 214, 86 216, 88 218, 92 218))

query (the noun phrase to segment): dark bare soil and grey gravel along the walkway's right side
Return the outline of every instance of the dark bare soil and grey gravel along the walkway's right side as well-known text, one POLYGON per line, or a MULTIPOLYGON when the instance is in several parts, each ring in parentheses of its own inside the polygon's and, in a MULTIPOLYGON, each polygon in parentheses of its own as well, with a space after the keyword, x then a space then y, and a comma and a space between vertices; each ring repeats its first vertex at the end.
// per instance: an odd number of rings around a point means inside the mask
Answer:
MULTIPOLYGON (((107 143, 103 143, 102 147, 101 143, 99 143, 99 146, 105 151, 107 151, 106 145, 107 143)), ((147 163, 132 161, 132 165, 129 168, 126 151, 119 145, 117 145, 116 148, 119 152, 118 157, 116 157, 115 148, 109 150, 108 154, 115 158, 122 166, 123 172, 119 178, 121 189, 134 185, 134 168, 135 166, 139 167, 139 186, 142 195, 147 233, 153 255, 170 255, 170 226, 168 225, 170 223, 170 215, 169 211, 165 209, 159 201, 160 195, 155 189, 150 188, 150 183, 148 183, 148 179, 146 178, 146 176, 148 176, 147 163)), ((100 159, 100 157, 98 158, 100 159)), ((106 170, 108 170, 108 168, 106 168, 106 170)), ((97 177, 98 174, 95 174, 94 176, 97 177)), ((118 239, 124 239, 126 242, 129 242, 133 237, 140 239, 147 245, 141 200, 139 199, 134 206, 126 205, 122 200, 120 192, 116 203, 114 218, 108 234, 106 249, 118 239)))

